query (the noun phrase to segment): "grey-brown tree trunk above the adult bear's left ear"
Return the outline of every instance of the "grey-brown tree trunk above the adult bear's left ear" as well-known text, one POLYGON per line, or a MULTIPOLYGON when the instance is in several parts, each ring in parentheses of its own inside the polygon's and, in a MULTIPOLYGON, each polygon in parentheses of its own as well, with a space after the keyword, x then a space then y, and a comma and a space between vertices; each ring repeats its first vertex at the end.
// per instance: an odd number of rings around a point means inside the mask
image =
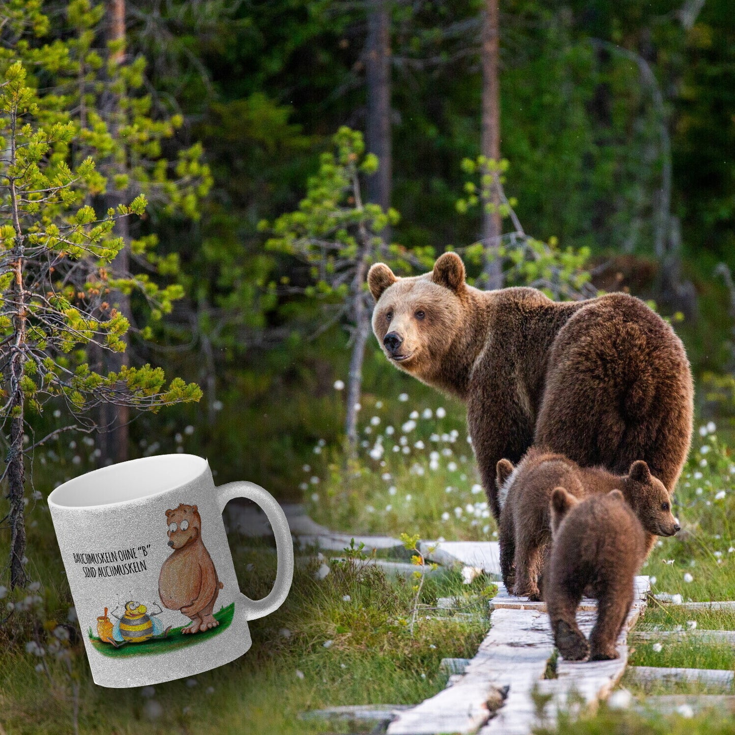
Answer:
MULTIPOLYGON (((390 207, 392 154, 390 130, 390 2, 371 0, 368 12, 368 40, 365 60, 368 87, 368 113, 365 143, 368 153, 375 154, 379 169, 368 176, 368 201, 390 207)), ((390 232, 381 232, 390 242, 390 232)))

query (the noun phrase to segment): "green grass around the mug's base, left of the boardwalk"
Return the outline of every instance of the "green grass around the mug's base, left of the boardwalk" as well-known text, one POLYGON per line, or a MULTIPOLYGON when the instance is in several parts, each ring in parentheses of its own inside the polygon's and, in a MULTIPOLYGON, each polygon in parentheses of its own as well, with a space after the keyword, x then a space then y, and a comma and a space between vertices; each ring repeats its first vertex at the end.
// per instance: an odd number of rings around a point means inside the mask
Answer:
MULTIPOLYGON (((15 614, 0 631, 0 723, 9 734, 70 732, 73 701, 65 661, 57 661, 46 645, 49 681, 35 670, 40 659, 25 650, 34 625, 46 634, 66 619, 71 605, 48 514, 38 507, 31 517, 37 523, 29 524, 34 550, 29 567, 31 577, 43 584, 38 592, 43 603, 35 614, 15 614)), ((0 539, 6 543, 5 537, 0 539)), ((6 549, 7 545, 0 548, 0 553, 6 549)), ((252 598, 267 594, 275 577, 272 548, 233 537, 232 549, 243 592, 252 598), (253 568, 247 568, 250 564, 253 568)), ((153 719, 150 700, 140 689, 111 692, 96 686, 81 642, 71 646, 80 686, 80 731, 344 732, 346 725, 303 721, 299 713, 346 704, 418 703, 445 686, 446 675, 439 668, 442 658, 473 656, 487 631, 487 618, 436 620, 428 609, 437 597, 465 595, 470 612, 487 612, 482 598, 491 592, 484 589, 487 579, 467 587, 459 573, 427 578, 421 598, 427 609, 411 636, 407 620, 412 581, 388 578, 375 567, 358 569, 334 562, 329 562, 329 575, 318 581, 313 576, 318 563, 298 566, 284 606, 250 623, 253 646, 245 656, 198 675, 193 680, 196 686, 186 681, 155 686, 154 707, 160 705, 160 714, 153 719), (332 643, 325 648, 328 641, 332 643)), ((51 640, 47 635, 46 642, 51 640)), ((129 648, 133 650, 133 645, 129 648)), ((197 655, 196 646, 190 650, 197 655)))

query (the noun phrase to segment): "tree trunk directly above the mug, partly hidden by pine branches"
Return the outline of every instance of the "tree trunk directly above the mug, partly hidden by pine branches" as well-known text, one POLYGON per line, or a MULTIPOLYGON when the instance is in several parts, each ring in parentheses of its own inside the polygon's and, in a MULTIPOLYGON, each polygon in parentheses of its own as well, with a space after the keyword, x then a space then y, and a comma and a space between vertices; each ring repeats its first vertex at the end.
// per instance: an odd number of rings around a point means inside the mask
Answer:
MULTIPOLYGON (((115 67, 125 61, 125 0, 107 0, 107 41, 114 43, 114 49, 110 53, 110 60, 115 62, 115 67)), ((112 81, 112 80, 110 80, 112 81)), ((107 122, 112 130, 112 135, 117 135, 116 130, 119 127, 118 116, 121 115, 119 109, 119 100, 112 93, 109 94, 107 101, 107 110, 104 110, 107 116, 107 122)), ((123 163, 113 163, 108 171, 108 179, 110 179, 110 187, 112 187, 112 178, 116 173, 125 173, 123 163)), ((127 203, 127 193, 112 190, 104 196, 104 207, 113 209, 118 204, 127 203)), ((121 278, 129 273, 129 228, 127 218, 122 217, 115 223, 115 234, 118 234, 125 241, 123 249, 118 257, 112 261, 112 275, 121 278)), ((132 319, 132 310, 130 308, 130 297, 124 293, 116 291, 110 294, 110 303, 125 315, 128 320, 132 319)), ((127 343, 127 340, 126 340, 127 343)), ((130 364, 130 357, 127 352, 107 352, 104 355, 104 370, 108 372, 118 373, 123 365, 130 364)), ((114 404, 103 404, 99 409, 99 426, 101 429, 99 449, 102 453, 101 462, 104 465, 110 465, 115 462, 125 462, 129 457, 129 431, 128 423, 130 420, 130 409, 128 406, 115 406, 114 404)))

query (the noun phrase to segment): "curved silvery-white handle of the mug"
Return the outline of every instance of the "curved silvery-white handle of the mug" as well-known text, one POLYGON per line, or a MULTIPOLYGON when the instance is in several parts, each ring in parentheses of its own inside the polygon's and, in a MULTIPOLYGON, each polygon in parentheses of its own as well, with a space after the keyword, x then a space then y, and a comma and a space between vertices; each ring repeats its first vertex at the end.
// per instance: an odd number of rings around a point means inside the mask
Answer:
POLYGON ((249 501, 257 503, 265 511, 270 528, 273 528, 273 535, 276 537, 278 567, 276 568, 276 581, 273 582, 273 589, 262 600, 251 600, 247 595, 240 592, 240 595, 245 598, 248 620, 257 620, 257 618, 265 617, 265 615, 279 609, 291 589, 293 539, 291 539, 288 521, 281 506, 276 502, 276 498, 273 498, 270 492, 263 490, 262 487, 252 482, 244 480, 228 482, 216 487, 215 490, 221 513, 224 512, 225 506, 233 498, 247 498, 249 501))

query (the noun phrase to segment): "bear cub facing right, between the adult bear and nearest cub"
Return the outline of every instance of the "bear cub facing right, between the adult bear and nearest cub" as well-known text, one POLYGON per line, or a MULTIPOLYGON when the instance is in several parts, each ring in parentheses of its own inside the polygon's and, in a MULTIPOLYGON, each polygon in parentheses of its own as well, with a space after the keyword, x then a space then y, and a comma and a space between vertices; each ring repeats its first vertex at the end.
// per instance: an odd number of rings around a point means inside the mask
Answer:
POLYGON ((501 459, 495 481, 501 504, 503 584, 529 600, 540 599, 539 583, 551 544, 549 502, 555 487, 564 487, 578 500, 620 490, 646 531, 647 552, 656 536, 673 536, 679 530, 668 491, 641 460, 633 462, 627 475, 614 475, 531 447, 515 468, 501 459))

